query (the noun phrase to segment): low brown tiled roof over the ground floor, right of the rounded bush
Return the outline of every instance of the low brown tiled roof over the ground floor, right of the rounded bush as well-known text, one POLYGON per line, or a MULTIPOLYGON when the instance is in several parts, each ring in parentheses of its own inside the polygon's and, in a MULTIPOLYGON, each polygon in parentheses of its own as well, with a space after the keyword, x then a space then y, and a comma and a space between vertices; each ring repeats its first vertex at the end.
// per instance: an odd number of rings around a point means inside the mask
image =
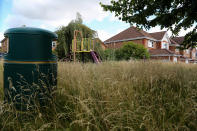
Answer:
POLYGON ((177 56, 175 53, 167 49, 149 50, 149 53, 151 56, 177 56))

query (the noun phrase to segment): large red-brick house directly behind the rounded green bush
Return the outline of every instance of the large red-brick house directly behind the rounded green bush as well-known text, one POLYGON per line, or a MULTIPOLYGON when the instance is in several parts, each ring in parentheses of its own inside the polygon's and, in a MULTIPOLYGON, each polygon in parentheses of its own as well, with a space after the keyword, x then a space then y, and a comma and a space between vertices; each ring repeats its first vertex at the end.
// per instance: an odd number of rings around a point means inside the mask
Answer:
POLYGON ((187 62, 182 60, 184 55, 177 49, 180 43, 171 39, 167 31, 148 33, 136 27, 130 27, 104 41, 104 44, 106 48, 120 48, 124 42, 130 41, 144 45, 148 49, 151 59, 187 62))

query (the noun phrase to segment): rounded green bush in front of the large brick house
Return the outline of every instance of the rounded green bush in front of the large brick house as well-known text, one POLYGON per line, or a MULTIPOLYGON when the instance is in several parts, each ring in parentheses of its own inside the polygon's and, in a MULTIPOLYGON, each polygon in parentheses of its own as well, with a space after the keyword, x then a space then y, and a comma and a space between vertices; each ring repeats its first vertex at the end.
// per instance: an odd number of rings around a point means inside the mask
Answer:
POLYGON ((117 60, 129 60, 129 59, 144 59, 149 58, 150 55, 146 48, 141 44, 134 44, 132 42, 124 43, 124 45, 117 49, 116 52, 117 60))

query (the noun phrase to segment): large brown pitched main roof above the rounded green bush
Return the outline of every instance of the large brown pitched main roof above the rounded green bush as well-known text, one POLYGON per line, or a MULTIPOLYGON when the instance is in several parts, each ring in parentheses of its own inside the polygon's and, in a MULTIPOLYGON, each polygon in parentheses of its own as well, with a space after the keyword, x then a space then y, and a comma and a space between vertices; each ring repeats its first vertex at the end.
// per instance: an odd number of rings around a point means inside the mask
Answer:
POLYGON ((128 41, 142 38, 154 39, 149 33, 132 26, 104 41, 104 43, 107 44, 111 42, 128 41))

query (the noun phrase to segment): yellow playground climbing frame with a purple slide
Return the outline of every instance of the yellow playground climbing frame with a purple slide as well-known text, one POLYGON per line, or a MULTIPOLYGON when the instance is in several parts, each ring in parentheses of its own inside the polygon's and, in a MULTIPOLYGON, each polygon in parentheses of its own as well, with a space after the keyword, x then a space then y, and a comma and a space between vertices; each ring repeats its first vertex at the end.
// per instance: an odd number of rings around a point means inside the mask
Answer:
POLYGON ((74 39, 72 41, 73 60, 76 62, 76 53, 82 54, 84 62, 84 53, 90 53, 94 63, 100 63, 101 59, 96 51, 94 51, 95 40, 91 38, 83 38, 81 31, 74 31, 74 39))

